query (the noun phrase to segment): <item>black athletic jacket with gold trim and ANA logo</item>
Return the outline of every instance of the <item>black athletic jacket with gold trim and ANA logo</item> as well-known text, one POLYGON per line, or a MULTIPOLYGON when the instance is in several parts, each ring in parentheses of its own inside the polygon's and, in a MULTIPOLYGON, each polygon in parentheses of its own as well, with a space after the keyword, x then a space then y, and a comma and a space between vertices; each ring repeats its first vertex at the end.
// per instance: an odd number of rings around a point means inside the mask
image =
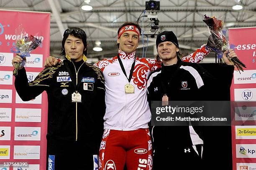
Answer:
POLYGON ((23 68, 15 77, 15 88, 23 101, 47 92, 48 139, 86 140, 99 146, 105 114, 105 82, 99 68, 83 62, 76 69, 65 59, 42 70, 30 83, 23 68), (72 102, 75 91, 81 94, 81 102, 72 102))

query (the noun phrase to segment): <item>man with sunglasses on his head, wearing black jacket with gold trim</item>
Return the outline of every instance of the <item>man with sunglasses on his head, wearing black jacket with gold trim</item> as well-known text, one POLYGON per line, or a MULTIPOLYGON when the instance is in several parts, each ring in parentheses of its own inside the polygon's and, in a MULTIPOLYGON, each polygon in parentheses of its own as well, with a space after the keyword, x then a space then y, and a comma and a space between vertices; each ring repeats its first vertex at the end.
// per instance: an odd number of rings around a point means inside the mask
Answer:
MULTIPOLYGON (((86 62, 84 30, 65 30, 61 54, 66 56, 63 62, 45 68, 29 83, 25 68, 20 67, 15 77, 15 88, 23 101, 47 92, 49 168, 92 170, 97 168, 103 134, 104 77, 99 68, 86 62), (72 149, 72 153, 68 148, 72 149), (50 167, 52 165, 54 167, 50 167)), ((14 65, 22 60, 26 58, 16 55, 12 63, 14 65)))

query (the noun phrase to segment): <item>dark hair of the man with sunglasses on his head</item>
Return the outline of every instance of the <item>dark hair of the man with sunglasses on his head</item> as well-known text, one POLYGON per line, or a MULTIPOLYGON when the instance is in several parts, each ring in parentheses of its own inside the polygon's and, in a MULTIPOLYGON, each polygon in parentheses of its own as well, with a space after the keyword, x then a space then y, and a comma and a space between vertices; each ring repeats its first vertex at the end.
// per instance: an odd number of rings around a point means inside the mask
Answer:
POLYGON ((79 38, 82 40, 83 44, 84 44, 84 49, 86 48, 85 51, 83 51, 83 54, 86 56, 87 55, 87 36, 84 32, 84 30, 82 30, 81 28, 76 28, 76 27, 71 27, 68 28, 67 30, 65 30, 64 34, 63 34, 63 39, 62 39, 62 48, 61 48, 61 53, 60 55, 66 55, 66 51, 65 51, 65 41, 67 40, 67 37, 69 35, 72 35, 76 38, 79 38))

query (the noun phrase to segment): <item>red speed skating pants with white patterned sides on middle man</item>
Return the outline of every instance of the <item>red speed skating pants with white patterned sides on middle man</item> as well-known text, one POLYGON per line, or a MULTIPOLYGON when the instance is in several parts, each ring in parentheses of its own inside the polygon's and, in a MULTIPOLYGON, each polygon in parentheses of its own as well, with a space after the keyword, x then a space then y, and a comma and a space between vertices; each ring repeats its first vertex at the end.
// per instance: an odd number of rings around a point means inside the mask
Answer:
POLYGON ((152 169, 152 143, 148 129, 105 129, 100 144, 99 170, 152 169))

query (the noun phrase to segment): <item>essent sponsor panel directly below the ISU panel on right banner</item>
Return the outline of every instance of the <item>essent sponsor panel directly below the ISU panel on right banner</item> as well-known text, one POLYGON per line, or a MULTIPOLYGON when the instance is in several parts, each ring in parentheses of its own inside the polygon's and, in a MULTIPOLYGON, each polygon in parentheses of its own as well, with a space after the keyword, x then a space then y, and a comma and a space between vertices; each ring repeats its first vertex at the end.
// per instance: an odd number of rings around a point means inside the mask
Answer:
POLYGON ((256 120, 256 107, 235 107, 235 120, 256 120))

